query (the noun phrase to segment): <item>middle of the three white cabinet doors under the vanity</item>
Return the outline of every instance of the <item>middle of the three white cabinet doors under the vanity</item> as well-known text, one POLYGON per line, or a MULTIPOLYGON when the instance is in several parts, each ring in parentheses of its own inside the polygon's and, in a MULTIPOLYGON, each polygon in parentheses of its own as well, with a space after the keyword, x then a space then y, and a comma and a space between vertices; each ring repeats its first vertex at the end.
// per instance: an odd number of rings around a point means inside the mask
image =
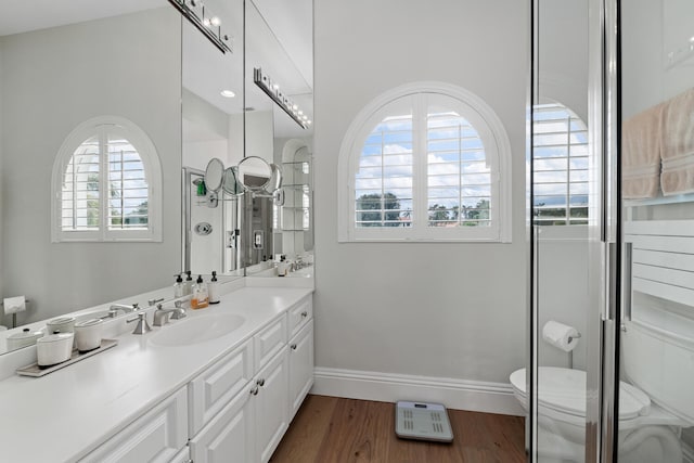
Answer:
POLYGON ((256 461, 262 463, 270 460, 288 426, 287 370, 288 357, 282 349, 256 376, 256 461))

